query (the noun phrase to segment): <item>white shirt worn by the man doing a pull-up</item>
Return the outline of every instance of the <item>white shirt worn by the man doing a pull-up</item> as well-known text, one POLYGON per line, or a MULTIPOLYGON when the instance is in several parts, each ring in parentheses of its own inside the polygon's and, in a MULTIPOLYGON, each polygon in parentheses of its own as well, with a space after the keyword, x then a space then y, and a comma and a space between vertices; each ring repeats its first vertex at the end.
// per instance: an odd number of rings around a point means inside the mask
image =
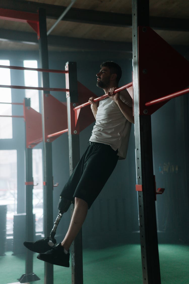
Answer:
MULTIPOLYGON (((133 106, 129 93, 124 90, 120 99, 128 106, 133 106)), ((89 141, 110 145, 118 149, 120 159, 125 159, 131 131, 131 122, 122 114, 118 105, 109 97, 99 102, 96 123, 89 141)))

